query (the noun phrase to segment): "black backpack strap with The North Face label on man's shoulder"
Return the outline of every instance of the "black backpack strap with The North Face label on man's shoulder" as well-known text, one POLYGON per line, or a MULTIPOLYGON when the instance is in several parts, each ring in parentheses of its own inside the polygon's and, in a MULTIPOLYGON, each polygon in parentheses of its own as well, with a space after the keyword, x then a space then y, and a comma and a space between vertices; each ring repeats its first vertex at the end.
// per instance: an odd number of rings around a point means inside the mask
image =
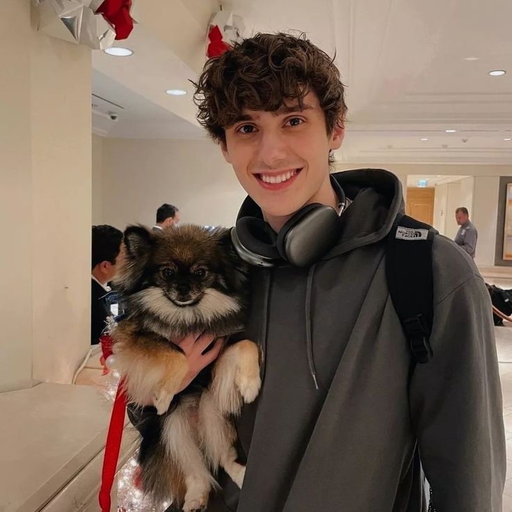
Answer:
POLYGON ((437 231, 399 214, 388 235, 386 278, 391 300, 417 362, 433 357, 432 244, 437 231))

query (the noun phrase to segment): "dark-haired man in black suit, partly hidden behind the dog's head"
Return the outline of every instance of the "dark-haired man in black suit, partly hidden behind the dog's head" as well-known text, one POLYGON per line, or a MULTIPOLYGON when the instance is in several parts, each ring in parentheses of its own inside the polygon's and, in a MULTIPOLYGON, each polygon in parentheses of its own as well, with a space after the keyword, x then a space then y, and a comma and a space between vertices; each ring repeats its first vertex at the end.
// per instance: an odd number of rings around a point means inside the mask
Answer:
POLYGON ((120 259, 122 232, 109 225, 93 226, 92 249, 90 342, 97 344, 106 319, 111 316, 105 296, 111 291, 108 283, 113 279, 120 259))

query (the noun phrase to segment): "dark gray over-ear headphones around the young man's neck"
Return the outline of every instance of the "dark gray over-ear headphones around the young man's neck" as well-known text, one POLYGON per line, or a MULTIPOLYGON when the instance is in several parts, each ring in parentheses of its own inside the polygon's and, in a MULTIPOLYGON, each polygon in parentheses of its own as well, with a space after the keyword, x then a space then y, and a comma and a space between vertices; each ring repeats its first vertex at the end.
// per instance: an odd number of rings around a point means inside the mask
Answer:
MULTIPOLYGON (((342 187, 332 176, 330 183, 339 199, 338 211, 318 202, 306 205, 289 218, 278 234, 262 218, 239 218, 231 230, 231 239, 241 259, 267 268, 282 262, 299 267, 318 262, 339 240, 339 216, 346 206, 342 187)), ((246 201, 252 202, 250 198, 246 201)))

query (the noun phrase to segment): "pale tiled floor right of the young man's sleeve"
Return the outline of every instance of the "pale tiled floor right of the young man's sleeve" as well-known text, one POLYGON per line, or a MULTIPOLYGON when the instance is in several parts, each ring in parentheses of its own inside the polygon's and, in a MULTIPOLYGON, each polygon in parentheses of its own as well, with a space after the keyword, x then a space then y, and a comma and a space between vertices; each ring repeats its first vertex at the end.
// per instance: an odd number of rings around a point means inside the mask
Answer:
POLYGON ((503 512, 512 512, 512 323, 495 328, 502 380, 503 420, 506 437, 506 483, 503 495, 503 512))

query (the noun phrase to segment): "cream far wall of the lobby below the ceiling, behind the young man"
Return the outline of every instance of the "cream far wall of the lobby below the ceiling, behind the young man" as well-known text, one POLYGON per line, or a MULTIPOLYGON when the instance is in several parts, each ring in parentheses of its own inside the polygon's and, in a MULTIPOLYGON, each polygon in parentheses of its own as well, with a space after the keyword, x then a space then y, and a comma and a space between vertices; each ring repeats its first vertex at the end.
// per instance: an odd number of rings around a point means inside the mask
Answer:
MULTIPOLYGON (((245 193, 220 149, 211 141, 95 137, 93 148, 95 223, 108 223, 120 229, 134 222, 150 225, 154 223, 157 207, 170 202, 179 207, 184 222, 233 225, 245 193), (102 159, 98 154, 102 154, 102 159), (99 195, 101 205, 97 202, 99 195)), ((336 167, 346 170, 378 164, 338 163, 336 167)), ((455 209, 466 206, 482 233, 477 262, 494 263, 496 184, 499 176, 512 174, 512 166, 397 164, 387 168, 401 182, 405 182, 408 174, 476 176, 436 187, 434 225, 442 234, 454 238, 458 230, 455 209)))

